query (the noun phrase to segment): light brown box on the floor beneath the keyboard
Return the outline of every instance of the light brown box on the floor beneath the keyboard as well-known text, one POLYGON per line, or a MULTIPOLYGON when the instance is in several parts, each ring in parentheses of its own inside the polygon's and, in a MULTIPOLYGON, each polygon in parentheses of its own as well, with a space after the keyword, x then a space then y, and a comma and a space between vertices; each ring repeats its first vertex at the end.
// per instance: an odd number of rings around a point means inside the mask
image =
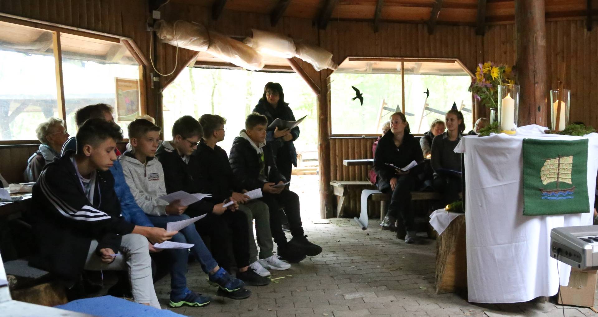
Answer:
POLYGON ((557 303, 570 306, 593 307, 594 292, 596 292, 596 270, 580 271, 571 268, 569 285, 560 286, 560 294, 557 294, 557 303))

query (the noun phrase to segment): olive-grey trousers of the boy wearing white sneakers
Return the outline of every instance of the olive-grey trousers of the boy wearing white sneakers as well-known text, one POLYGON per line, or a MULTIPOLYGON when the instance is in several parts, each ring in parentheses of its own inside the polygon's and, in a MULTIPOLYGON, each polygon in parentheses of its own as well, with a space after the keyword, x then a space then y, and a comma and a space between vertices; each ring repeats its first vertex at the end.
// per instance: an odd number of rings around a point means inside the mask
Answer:
POLYGON ((239 205, 239 211, 242 211, 249 225, 249 263, 258 260, 258 249, 255 245, 255 233, 257 234, 258 246, 260 246, 260 258, 268 258, 273 255, 274 243, 272 242, 272 232, 270 231, 270 212, 268 205, 261 200, 251 200, 245 205, 239 205))

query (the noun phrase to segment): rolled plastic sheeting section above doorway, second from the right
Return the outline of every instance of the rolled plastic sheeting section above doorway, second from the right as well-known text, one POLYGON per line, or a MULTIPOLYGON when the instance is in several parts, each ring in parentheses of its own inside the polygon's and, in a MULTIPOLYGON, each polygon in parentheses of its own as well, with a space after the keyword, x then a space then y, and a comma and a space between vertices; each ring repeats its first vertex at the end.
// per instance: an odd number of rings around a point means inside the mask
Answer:
POLYGON ((292 38, 279 33, 251 29, 254 37, 245 42, 256 51, 270 56, 290 59, 295 56, 297 49, 292 38))

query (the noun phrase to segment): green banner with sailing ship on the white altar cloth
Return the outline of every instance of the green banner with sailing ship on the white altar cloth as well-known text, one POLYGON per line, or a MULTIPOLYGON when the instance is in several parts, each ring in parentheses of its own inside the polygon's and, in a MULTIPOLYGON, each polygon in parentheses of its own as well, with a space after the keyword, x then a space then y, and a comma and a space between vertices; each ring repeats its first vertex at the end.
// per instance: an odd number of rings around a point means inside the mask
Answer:
POLYGON ((523 140, 523 214, 590 212, 588 139, 523 140))

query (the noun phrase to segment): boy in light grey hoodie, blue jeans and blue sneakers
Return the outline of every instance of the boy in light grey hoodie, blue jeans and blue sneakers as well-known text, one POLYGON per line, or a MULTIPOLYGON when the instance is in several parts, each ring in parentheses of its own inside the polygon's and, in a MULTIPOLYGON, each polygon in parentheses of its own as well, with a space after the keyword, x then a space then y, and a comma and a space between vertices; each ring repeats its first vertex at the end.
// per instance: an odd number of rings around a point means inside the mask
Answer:
MULTIPOLYGON (((123 166, 124 178, 131 189, 135 202, 148 215, 152 224, 157 227, 166 227, 168 222, 189 219, 184 215, 187 206, 180 202, 167 203, 158 197, 166 195, 164 185, 164 171, 162 164, 154 160, 158 147, 160 127, 155 126, 145 119, 138 119, 129 124, 129 141, 132 151, 126 151, 119 159, 123 166)), ((222 203, 221 205, 224 205, 222 203)), ((235 208, 236 205, 233 205, 235 208)), ((220 206, 222 208, 222 206, 220 206)), ((234 279, 228 272, 218 266, 212 254, 206 248, 202 238, 197 233, 194 225, 181 229, 182 236, 173 242, 193 243, 191 253, 202 264, 203 271, 208 274, 209 281, 218 284, 218 294, 233 299, 247 298, 251 295, 248 289, 243 288, 243 282, 234 279)), ((180 236, 180 235, 179 235, 180 236)), ((187 249, 170 249, 173 263, 170 267, 170 306, 183 305, 200 307, 211 300, 208 296, 196 294, 187 288, 187 249)))

